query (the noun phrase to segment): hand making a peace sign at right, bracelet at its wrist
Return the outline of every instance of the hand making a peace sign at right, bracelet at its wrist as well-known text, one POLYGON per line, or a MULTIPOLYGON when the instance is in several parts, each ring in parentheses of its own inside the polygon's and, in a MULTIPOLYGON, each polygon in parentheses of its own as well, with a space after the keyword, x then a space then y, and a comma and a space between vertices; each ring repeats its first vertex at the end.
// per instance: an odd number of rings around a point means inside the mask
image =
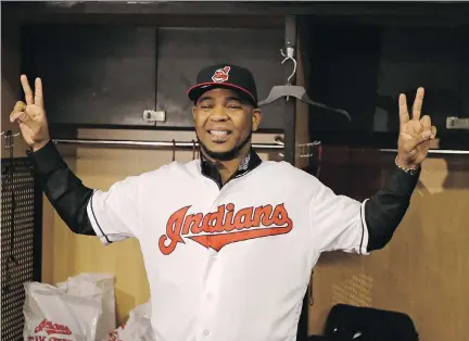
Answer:
POLYGON ((436 136, 436 128, 431 125, 430 116, 421 115, 424 89, 418 88, 413 105, 413 117, 407 110, 407 100, 404 93, 398 98, 400 108, 400 136, 397 141, 396 162, 404 168, 416 169, 427 157, 430 140, 436 136))

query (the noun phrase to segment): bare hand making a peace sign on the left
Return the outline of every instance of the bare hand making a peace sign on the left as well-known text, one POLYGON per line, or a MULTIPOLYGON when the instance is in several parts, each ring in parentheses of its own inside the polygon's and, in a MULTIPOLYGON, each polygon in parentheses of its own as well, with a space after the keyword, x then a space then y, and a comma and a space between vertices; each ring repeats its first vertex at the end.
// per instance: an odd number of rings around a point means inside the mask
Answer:
POLYGON ((25 75, 21 76, 21 83, 25 94, 26 103, 17 101, 10 122, 17 122, 26 143, 33 147, 34 151, 41 149, 49 140, 49 127, 43 106, 42 83, 36 78, 35 93, 33 93, 25 75))

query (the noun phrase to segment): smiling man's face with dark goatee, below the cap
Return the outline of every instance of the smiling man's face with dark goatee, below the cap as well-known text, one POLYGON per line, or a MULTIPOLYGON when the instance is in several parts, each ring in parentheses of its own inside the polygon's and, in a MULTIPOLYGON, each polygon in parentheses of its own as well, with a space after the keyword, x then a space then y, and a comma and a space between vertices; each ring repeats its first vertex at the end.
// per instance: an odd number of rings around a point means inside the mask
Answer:
POLYGON ((230 160, 256 131, 262 114, 232 90, 216 88, 204 92, 193 108, 195 132, 210 156, 230 160))

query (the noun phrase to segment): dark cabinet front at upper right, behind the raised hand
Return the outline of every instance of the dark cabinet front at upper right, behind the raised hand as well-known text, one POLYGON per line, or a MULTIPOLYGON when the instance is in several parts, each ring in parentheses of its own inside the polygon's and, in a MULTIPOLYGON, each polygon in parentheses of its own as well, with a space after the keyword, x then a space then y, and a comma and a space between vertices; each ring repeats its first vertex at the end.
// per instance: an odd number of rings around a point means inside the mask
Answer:
POLYGON ((447 116, 469 116, 468 28, 338 22, 307 27, 309 97, 353 117, 348 124, 340 115, 310 108, 312 136, 347 144, 360 139, 357 143, 370 144, 365 140, 382 137, 383 148, 394 147, 398 94, 405 92, 411 106, 422 86, 423 112, 440 136, 449 144, 469 140, 467 132, 446 129, 447 116))

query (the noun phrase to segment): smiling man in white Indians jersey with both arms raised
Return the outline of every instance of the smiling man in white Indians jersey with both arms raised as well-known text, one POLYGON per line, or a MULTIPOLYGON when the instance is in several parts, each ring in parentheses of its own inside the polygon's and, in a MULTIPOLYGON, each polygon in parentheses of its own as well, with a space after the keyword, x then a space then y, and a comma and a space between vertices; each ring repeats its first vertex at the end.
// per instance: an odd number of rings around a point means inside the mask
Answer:
POLYGON ((383 248, 403 218, 419 165, 435 137, 400 97, 394 175, 364 203, 334 194, 286 162, 262 162, 251 148, 259 126, 256 87, 237 65, 202 70, 189 89, 201 160, 173 162, 128 177, 109 191, 85 187, 50 140, 40 79, 17 122, 52 205, 76 233, 104 244, 140 241, 159 341, 295 340, 313 267, 321 252, 368 254, 383 248))

